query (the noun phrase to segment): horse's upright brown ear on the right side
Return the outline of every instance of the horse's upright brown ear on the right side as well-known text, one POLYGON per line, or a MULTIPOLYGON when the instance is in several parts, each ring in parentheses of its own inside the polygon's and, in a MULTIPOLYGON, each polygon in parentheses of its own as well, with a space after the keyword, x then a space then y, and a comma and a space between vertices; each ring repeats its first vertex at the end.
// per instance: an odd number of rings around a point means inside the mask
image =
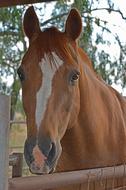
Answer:
POLYGON ((72 40, 76 40, 82 31, 82 20, 77 9, 71 9, 66 20, 65 33, 72 40))

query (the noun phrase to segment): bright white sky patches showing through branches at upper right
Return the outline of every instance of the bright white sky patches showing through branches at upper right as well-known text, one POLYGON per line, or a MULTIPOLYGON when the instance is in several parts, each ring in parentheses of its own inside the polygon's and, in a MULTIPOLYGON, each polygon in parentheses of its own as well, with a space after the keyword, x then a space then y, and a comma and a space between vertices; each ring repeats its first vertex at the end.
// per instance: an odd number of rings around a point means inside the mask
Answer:
MULTIPOLYGON (((102 0, 100 1, 99 7, 106 7, 106 1, 102 0)), ((126 17, 126 1, 125 0, 114 0, 114 4, 116 8, 120 9, 123 12, 123 15, 126 17)), ((106 11, 97 11, 93 14, 94 16, 99 16, 101 19, 105 19, 109 23, 109 27, 111 31, 113 32, 113 35, 116 35, 116 33, 119 34, 122 44, 126 44, 126 21, 124 21, 121 16, 118 13, 111 13, 107 14, 106 11)), ((110 41, 114 40, 114 37, 112 39, 112 36, 106 34, 104 36, 107 39, 110 39, 110 41)), ((99 47, 100 48, 100 47, 99 47)), ((110 53, 113 57, 118 58, 119 57, 119 48, 117 44, 113 44, 113 46, 104 46, 105 50, 110 53)), ((119 92, 121 92, 123 95, 126 96, 126 88, 122 89, 121 85, 118 84, 112 84, 112 86, 117 89, 119 92)))

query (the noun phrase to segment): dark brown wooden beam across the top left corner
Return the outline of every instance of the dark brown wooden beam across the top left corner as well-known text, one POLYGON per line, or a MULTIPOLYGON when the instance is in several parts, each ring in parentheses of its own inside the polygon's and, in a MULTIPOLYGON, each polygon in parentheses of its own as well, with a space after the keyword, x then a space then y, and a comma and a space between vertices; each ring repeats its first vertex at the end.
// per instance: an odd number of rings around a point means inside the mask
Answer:
POLYGON ((15 5, 25 5, 33 3, 48 3, 56 0, 0 0, 0 7, 10 7, 15 5))

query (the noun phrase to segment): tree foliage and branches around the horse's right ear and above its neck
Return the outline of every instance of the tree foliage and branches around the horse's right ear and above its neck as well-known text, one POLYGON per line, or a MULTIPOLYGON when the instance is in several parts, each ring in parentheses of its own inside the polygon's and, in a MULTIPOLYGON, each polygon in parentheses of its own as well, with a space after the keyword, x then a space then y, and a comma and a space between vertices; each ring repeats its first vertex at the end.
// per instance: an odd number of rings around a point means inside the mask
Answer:
MULTIPOLYGON (((96 71, 103 77, 103 79, 108 83, 121 83, 122 87, 126 84, 125 75, 125 57, 126 57, 126 45, 121 42, 118 33, 114 34, 111 31, 108 20, 106 18, 103 20, 100 16, 94 16, 94 12, 103 12, 106 15, 112 15, 115 13, 118 17, 126 20, 121 10, 117 8, 114 1, 106 0, 105 7, 99 7, 99 0, 74 0, 71 7, 77 8, 82 16, 84 32, 80 38, 80 46, 88 53, 90 56, 96 71), (106 13, 105 13, 106 12, 106 13), (98 28, 98 32, 94 37, 94 29, 98 28), (105 34, 110 36, 112 41, 105 39, 105 34), (100 44, 103 49, 99 48, 100 44), (117 57, 112 57, 111 55, 111 45, 118 45, 120 55, 117 57), (109 53, 105 50, 105 46, 110 46, 109 53)), ((52 13, 52 19, 50 20, 52 24, 60 26, 62 29, 64 17, 67 15, 69 5, 64 4, 63 1, 58 1, 52 13), (61 14, 62 13, 62 14, 61 14)))

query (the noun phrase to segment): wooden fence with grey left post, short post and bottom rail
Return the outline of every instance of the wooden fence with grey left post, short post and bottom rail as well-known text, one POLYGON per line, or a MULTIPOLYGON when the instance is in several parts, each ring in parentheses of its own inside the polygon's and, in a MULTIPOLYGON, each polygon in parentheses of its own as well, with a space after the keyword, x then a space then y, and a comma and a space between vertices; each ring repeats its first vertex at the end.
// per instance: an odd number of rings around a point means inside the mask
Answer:
POLYGON ((12 174, 15 178, 9 179, 8 183, 10 98, 0 95, 0 102, 0 190, 46 190, 77 184, 81 184, 79 186, 81 190, 126 189, 125 165, 44 176, 21 177, 22 154, 13 154, 9 157, 9 164, 13 166, 12 174))

